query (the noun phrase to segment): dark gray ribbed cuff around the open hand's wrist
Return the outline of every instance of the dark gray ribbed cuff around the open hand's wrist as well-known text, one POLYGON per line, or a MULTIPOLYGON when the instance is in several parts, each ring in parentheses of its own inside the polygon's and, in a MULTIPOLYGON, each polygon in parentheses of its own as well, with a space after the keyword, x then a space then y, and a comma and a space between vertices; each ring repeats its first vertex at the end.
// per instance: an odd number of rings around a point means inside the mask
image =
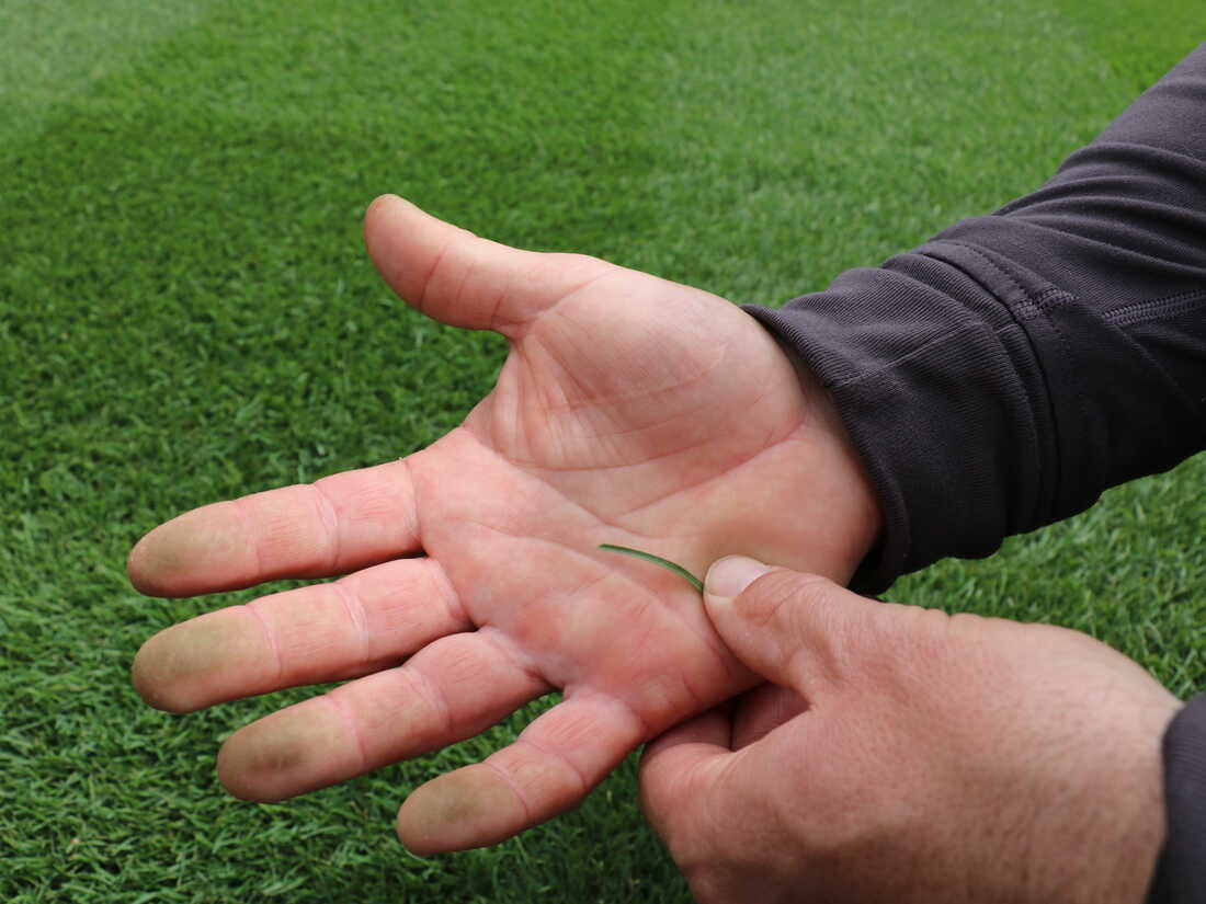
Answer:
POLYGON ((884 529, 860 593, 989 556, 1053 515, 1054 411, 1019 321, 1041 319, 1050 287, 1011 270, 931 242, 781 309, 745 307, 832 395, 876 488, 884 529))

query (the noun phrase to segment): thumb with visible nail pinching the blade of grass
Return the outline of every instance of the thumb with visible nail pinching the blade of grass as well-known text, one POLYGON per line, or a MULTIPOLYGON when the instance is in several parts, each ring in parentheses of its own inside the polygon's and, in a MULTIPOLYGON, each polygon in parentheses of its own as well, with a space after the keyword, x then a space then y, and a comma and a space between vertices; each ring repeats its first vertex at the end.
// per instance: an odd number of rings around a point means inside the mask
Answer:
POLYGON ((747 668, 804 697, 872 654, 882 604, 826 577, 728 556, 708 569, 708 618, 747 668))

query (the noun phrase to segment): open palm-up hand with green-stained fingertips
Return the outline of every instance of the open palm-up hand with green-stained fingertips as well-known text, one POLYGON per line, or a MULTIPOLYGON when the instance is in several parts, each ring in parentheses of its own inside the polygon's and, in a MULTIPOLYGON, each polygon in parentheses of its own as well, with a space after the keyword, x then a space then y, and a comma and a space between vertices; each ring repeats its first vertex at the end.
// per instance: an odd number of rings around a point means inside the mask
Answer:
POLYGON ((691 587, 601 542, 844 581, 879 516, 824 393, 722 299, 484 241, 390 196, 365 241, 414 307, 510 340, 497 386, 403 460, 145 536, 129 573, 158 595, 347 576, 169 628, 134 682, 185 712, 357 679, 227 740, 218 775, 254 800, 446 746, 562 688, 515 744, 403 805, 411 850, 458 850, 572 806, 638 744, 755 681, 691 587))

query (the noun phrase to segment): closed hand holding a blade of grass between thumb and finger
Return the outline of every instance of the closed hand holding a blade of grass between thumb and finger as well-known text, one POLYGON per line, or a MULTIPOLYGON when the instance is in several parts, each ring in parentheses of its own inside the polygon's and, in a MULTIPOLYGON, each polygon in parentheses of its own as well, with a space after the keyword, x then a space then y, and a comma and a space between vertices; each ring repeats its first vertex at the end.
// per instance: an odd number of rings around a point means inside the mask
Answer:
POLYGON ((707 610, 777 687, 642 762, 645 812, 701 904, 1143 898, 1179 703, 1142 668, 1064 628, 767 571, 718 563, 707 610))

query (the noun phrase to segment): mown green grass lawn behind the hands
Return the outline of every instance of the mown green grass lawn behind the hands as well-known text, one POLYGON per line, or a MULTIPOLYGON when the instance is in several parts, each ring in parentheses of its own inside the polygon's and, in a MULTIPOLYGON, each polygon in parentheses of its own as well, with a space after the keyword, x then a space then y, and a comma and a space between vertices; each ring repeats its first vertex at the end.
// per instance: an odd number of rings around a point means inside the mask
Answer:
MULTIPOLYGON (((7 0, 0 7, 0 899, 684 902, 628 762, 498 847, 405 853, 408 789, 531 717, 280 805, 213 755, 302 692, 170 717, 141 641, 239 599, 125 582, 195 505, 405 454, 504 348, 397 303, 404 194, 509 243, 781 303, 1046 178, 1206 40, 1198 0, 7 0)), ((1087 630, 1206 686, 1206 460, 901 600, 1087 630)))

